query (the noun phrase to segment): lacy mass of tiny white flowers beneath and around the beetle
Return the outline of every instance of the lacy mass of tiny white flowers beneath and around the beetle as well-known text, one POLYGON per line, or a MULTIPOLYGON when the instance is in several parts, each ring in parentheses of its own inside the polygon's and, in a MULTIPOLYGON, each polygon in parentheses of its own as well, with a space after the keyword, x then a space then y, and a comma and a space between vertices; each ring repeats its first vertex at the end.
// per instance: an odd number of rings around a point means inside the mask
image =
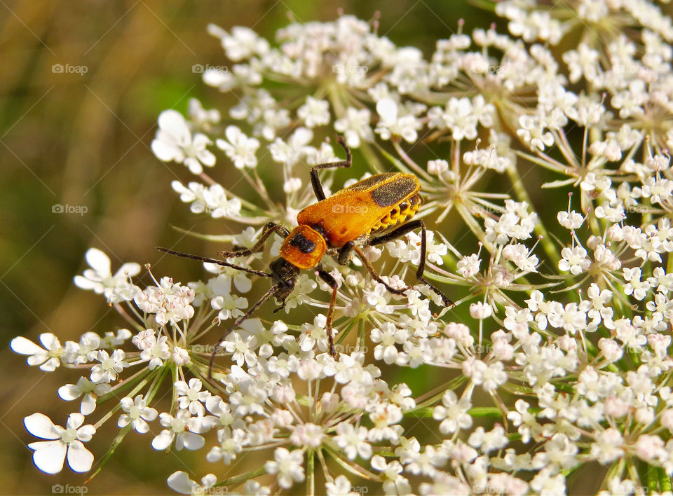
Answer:
MULTIPOLYGON (((351 16, 289 25, 276 46, 211 25, 231 69, 203 81, 240 103, 164 111, 152 150, 193 174, 172 183, 191 212, 247 226, 214 239, 250 248, 269 222, 297 226, 316 201, 308 168, 340 160, 338 132, 372 173, 419 178, 426 277, 456 305, 423 282, 389 291, 423 263, 419 233, 362 247, 379 280, 325 256, 338 287, 332 357, 332 289, 311 270, 283 319, 260 310, 241 320, 254 267, 278 256, 280 237, 267 253, 205 263, 205 280, 152 276, 144 289, 139 265, 112 275, 90 249, 74 282, 103 294, 127 329, 64 345, 48 333, 43 346, 12 341, 43 371, 86 371, 58 390, 81 399, 67 428, 26 418, 49 440, 29 445, 36 466, 54 473, 67 456, 90 469, 83 443, 119 408, 123 435, 207 450, 213 473, 176 471, 177 492, 557 495, 587 492, 566 476, 590 464, 606 467, 594 488, 604 494, 670 492, 672 22, 645 0, 505 0, 496 13, 510 34, 459 30, 428 58, 351 16), (204 167, 237 174, 256 198, 204 167), (298 307, 311 322, 297 321, 298 307), (170 404, 156 400, 165 388, 170 404), (108 401, 118 404, 83 425, 108 401), (218 476, 253 450, 264 462, 218 476)), ((327 195, 355 181, 320 174, 327 195)))

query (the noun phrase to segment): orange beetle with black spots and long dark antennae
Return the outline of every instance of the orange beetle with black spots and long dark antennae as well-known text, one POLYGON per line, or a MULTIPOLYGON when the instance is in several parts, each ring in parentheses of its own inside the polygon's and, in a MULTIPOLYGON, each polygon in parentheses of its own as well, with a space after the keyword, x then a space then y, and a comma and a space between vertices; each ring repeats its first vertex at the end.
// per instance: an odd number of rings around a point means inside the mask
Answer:
MULTIPOLYGON (((283 226, 269 222, 264 226, 259 241, 252 248, 234 252, 219 252, 219 255, 225 259, 236 256, 250 256, 264 249, 269 236, 273 233, 279 233, 285 237, 285 240, 280 247, 280 257, 269 264, 270 273, 240 267, 222 260, 157 247, 161 252, 183 256, 188 259, 217 263, 220 266, 232 267, 261 277, 269 277, 276 281, 266 291, 266 294, 245 312, 245 315, 239 317, 233 326, 227 329, 217 343, 215 350, 234 328, 239 326, 247 317, 250 317, 271 296, 275 296, 281 303, 280 308, 283 308, 285 298, 290 296, 294 290, 294 284, 297 283, 299 278, 299 271, 314 269, 318 273, 318 277, 332 288, 332 301, 330 301, 327 311, 327 338, 329 339, 329 354, 335 357, 337 351, 334 348, 334 336, 332 336, 332 317, 334 315, 334 305, 337 301, 337 281, 322 267, 322 263, 320 263, 322 257, 328 254, 337 260, 340 265, 345 266, 350 263, 353 252, 355 252, 376 282, 383 284, 393 294, 404 294, 409 287, 405 289, 390 287, 376 273, 372 264, 362 254, 361 249, 395 240, 418 228, 421 229, 421 261, 418 270, 416 270, 416 277, 421 282, 428 284, 430 289, 442 298, 445 306, 453 305, 453 302, 447 296, 444 296, 442 291, 423 277, 423 270, 426 265, 425 223, 421 219, 404 223, 414 216, 421 206, 421 196, 419 195, 421 184, 419 180, 413 174, 399 172, 376 174, 348 186, 348 188, 337 191, 329 198, 325 198, 325 192, 322 191, 322 184, 320 183, 320 177, 318 177, 318 170, 331 167, 351 167, 351 150, 346 146, 343 137, 337 137, 337 142, 344 147, 346 160, 311 167, 311 185, 318 202, 297 214, 299 226, 289 231, 283 226), (380 233, 398 224, 402 225, 388 233, 372 237, 374 233, 380 233)), ((215 352, 210 357, 209 377, 213 359, 215 359, 215 352)))

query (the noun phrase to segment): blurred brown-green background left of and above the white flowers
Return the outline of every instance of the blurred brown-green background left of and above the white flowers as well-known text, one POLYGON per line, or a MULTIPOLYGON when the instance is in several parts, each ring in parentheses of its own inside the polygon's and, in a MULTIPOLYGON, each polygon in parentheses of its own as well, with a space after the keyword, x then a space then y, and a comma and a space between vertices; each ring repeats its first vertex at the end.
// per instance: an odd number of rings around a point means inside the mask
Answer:
MULTIPOLYGON (((123 326, 104 299, 72 283, 86 249, 107 252, 113 271, 125 261, 155 263, 157 276, 184 282, 200 277, 200 264, 170 257, 156 263, 154 247, 180 237, 170 224, 224 232, 222 221, 191 215, 170 188, 174 179, 191 180, 186 168, 161 163, 149 149, 163 109, 185 113, 189 97, 198 97, 226 116, 236 103, 192 72, 193 64, 228 63, 205 27, 243 25, 271 39, 290 20, 334 20, 340 11, 365 20, 380 11, 379 34, 426 55, 436 39, 456 32, 460 18, 466 32, 495 21, 475 6, 443 0, 0 1, 0 492, 43 494, 53 484, 80 485, 86 478, 67 468, 56 476, 37 471, 26 446, 36 439, 22 425, 36 411, 63 425, 79 403, 60 401, 56 390, 79 374, 28 368, 7 347, 14 336, 37 340, 52 332, 64 343, 123 326), (54 72, 53 64, 83 66, 86 74, 54 72), (87 212, 54 213, 57 204, 87 212)), ((212 174, 223 179, 217 167, 212 174)), ((222 249, 186 238, 179 248, 222 249)), ((97 460, 116 434, 114 424, 88 443, 97 460)), ((187 465, 199 476, 226 474, 222 464, 205 462, 203 450, 166 457, 150 442, 149 434, 130 434, 88 485, 89 494, 163 494, 165 478, 187 465)))

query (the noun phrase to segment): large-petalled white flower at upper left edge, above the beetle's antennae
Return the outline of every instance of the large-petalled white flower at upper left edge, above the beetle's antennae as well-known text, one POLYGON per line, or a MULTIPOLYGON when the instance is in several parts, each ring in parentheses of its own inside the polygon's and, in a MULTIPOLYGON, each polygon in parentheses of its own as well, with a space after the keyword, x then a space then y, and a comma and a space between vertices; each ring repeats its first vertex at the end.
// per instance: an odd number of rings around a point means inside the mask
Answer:
POLYGON ((215 165, 215 155, 205 148, 212 142, 200 132, 192 137, 182 113, 165 110, 159 114, 158 123, 151 145, 156 158, 162 162, 184 163, 192 174, 203 172, 203 165, 215 165))

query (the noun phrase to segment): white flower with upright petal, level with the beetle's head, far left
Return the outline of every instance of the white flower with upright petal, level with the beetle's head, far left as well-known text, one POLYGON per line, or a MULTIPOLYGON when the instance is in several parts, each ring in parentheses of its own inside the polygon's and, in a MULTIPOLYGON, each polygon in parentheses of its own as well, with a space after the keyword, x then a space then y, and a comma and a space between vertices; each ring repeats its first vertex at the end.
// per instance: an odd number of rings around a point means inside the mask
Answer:
POLYGON ((140 273, 140 265, 137 263, 124 263, 112 275, 110 259, 100 249, 88 249, 85 258, 91 268, 84 270, 83 275, 74 277, 74 283, 77 287, 93 289, 96 294, 103 294, 108 303, 130 301, 139 291, 130 282, 130 277, 140 273))

